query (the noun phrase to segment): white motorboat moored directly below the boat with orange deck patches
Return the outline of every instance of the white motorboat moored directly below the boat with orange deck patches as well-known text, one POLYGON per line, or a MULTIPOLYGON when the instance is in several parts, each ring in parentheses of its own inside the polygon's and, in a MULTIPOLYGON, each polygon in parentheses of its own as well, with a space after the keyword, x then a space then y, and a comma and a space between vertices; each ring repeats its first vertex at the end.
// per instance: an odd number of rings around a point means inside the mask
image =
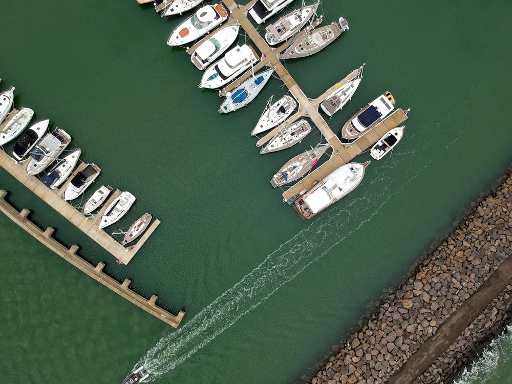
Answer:
POLYGON ((201 71, 217 60, 238 37, 240 24, 231 24, 213 33, 190 55, 190 61, 201 71))

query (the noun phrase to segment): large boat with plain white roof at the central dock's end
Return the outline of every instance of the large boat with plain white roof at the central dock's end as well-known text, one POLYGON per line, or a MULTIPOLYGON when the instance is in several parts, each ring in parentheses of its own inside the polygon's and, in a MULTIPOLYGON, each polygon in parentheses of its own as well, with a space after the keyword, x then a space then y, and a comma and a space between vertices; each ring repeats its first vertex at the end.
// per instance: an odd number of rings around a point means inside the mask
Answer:
POLYGON ((319 211, 347 196, 365 176, 365 169, 370 164, 348 163, 335 169, 321 182, 295 200, 295 208, 304 219, 311 219, 319 211))

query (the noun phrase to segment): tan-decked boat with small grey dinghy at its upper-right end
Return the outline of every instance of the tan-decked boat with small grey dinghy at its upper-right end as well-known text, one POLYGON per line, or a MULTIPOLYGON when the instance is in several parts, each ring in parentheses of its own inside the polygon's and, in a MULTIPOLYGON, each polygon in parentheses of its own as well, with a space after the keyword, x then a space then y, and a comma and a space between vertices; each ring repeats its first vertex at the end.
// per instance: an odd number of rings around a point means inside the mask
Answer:
POLYGON ((342 32, 348 29, 349 24, 343 17, 338 19, 338 23, 332 23, 324 27, 315 29, 306 27, 306 33, 301 37, 296 37, 280 58, 293 59, 310 56, 327 47, 342 32))

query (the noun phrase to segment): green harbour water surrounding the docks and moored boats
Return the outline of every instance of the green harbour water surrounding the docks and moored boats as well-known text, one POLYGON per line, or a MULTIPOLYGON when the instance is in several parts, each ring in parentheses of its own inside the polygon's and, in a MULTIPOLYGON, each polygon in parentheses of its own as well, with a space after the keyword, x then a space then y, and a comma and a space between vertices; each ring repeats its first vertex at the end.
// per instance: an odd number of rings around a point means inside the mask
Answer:
POLYGON ((321 135, 266 155, 250 136, 267 100, 286 92, 279 79, 220 115, 222 99, 197 88, 201 73, 184 48, 165 44, 188 14, 160 18, 135 0, 2 2, 0 90, 14 85, 18 108, 72 135, 70 148, 102 168, 96 188, 137 197, 109 230, 146 211, 162 224, 119 266, 3 170, 0 188, 87 261, 105 262, 147 298, 158 294, 167 310, 186 310, 170 328, 0 215, 4 382, 120 383, 141 361, 162 383, 303 382, 495 185, 510 165, 512 4, 325 0, 321 8, 326 22, 344 16, 350 30, 286 67, 315 98, 366 63, 352 101, 329 120, 333 130, 385 91, 411 112, 391 156, 302 221, 269 180, 321 135))

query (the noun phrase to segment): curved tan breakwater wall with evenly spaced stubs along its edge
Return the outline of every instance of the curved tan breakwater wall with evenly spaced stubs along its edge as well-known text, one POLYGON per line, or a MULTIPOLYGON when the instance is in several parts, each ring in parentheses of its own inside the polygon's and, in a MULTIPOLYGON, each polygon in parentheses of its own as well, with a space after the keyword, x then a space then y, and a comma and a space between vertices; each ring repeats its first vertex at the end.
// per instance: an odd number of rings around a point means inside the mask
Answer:
POLYGON ((29 232, 39 242, 57 253, 62 259, 65 259, 80 269, 82 272, 91 276, 91 278, 94 280, 113 290, 118 295, 124 297, 126 300, 137 305, 139 308, 142 308, 144 311, 151 313, 153 316, 157 317, 164 323, 170 325, 173 328, 177 328, 180 325, 180 322, 185 315, 183 310, 181 310, 178 315, 167 312, 163 308, 156 305, 158 298, 157 295, 153 295, 149 300, 146 300, 144 297, 138 293, 135 293, 129 288, 130 283, 132 282, 130 279, 125 279, 122 284, 118 283, 115 279, 111 278, 109 275, 103 272, 103 267, 105 266, 104 263, 99 263, 96 267, 94 267, 93 265, 80 258, 76 254, 76 251, 78 250, 77 245, 72 245, 71 248, 68 249, 60 244, 52 237, 54 230, 53 228, 46 228, 44 231, 39 229, 39 227, 37 227, 27 218, 30 211, 28 209, 23 209, 21 212, 18 212, 8 202, 5 201, 6 195, 7 192, 5 190, 0 190, 0 210, 13 222, 29 232))

